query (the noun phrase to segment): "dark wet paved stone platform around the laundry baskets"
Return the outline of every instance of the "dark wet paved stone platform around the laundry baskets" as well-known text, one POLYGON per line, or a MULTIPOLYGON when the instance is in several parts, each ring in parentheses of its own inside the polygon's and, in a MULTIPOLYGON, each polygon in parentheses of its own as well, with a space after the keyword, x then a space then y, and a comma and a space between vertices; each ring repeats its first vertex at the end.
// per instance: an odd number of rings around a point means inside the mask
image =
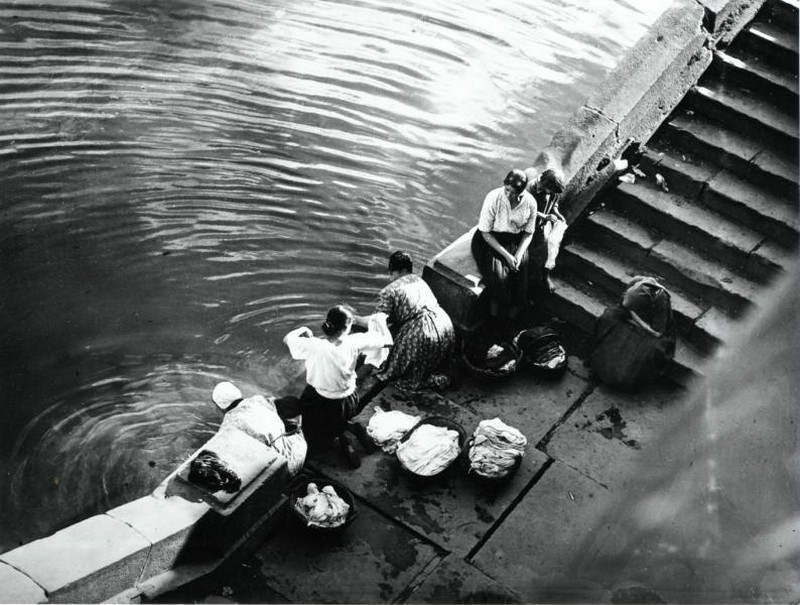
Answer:
POLYGON ((462 467, 419 484, 380 450, 362 451, 353 470, 331 448, 310 458, 306 471, 355 495, 359 513, 341 537, 309 536, 287 515, 246 561, 158 601, 531 602, 602 531, 594 521, 624 489, 651 437, 674 421, 684 395, 666 381, 637 395, 609 391, 577 357, 556 380, 520 370, 493 382, 467 378, 443 393, 386 389, 359 420, 381 406, 445 416, 471 433, 480 420, 500 417, 528 438, 520 470, 500 488, 476 483, 462 467))

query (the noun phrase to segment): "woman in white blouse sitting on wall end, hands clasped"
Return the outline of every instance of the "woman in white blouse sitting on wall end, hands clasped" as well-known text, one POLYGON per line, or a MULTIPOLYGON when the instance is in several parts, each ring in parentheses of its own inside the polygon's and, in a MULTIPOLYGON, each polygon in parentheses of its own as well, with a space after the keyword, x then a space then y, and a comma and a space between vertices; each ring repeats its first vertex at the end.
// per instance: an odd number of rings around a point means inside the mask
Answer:
POLYGON ((503 332, 528 300, 528 246, 536 226, 536 199, 527 185, 522 170, 509 172, 503 186, 492 189, 483 200, 472 238, 472 254, 489 297, 489 315, 503 332))

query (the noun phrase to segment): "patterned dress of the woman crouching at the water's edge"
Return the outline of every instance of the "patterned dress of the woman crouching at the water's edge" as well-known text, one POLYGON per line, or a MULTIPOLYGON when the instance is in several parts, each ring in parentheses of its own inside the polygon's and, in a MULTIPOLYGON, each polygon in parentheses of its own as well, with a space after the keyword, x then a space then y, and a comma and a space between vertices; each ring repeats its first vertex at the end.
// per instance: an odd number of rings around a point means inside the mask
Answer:
POLYGON ((436 372, 453 357, 455 332, 428 284, 413 274, 396 279, 381 290, 377 312, 389 316, 394 336, 378 378, 409 390, 443 386, 436 372))

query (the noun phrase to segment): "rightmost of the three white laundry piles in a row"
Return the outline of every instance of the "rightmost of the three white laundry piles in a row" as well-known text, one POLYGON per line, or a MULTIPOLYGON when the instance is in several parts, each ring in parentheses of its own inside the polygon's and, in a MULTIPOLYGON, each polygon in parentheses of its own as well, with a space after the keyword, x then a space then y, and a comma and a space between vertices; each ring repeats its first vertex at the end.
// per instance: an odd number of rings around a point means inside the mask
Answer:
POLYGON ((499 418, 481 420, 467 452, 470 470, 493 479, 506 476, 525 454, 528 440, 499 418))

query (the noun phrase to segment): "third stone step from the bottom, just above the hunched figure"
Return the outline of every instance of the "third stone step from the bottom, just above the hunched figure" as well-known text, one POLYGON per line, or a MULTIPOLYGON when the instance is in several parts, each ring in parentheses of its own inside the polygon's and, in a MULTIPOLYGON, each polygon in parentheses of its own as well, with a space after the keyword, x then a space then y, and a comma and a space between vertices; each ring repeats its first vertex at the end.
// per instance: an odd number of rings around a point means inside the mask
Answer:
POLYGON ((698 306, 719 307, 737 316, 760 289, 755 281, 680 242, 664 239, 610 209, 586 218, 586 239, 630 258, 643 270, 659 275, 664 285, 686 293, 698 306))

